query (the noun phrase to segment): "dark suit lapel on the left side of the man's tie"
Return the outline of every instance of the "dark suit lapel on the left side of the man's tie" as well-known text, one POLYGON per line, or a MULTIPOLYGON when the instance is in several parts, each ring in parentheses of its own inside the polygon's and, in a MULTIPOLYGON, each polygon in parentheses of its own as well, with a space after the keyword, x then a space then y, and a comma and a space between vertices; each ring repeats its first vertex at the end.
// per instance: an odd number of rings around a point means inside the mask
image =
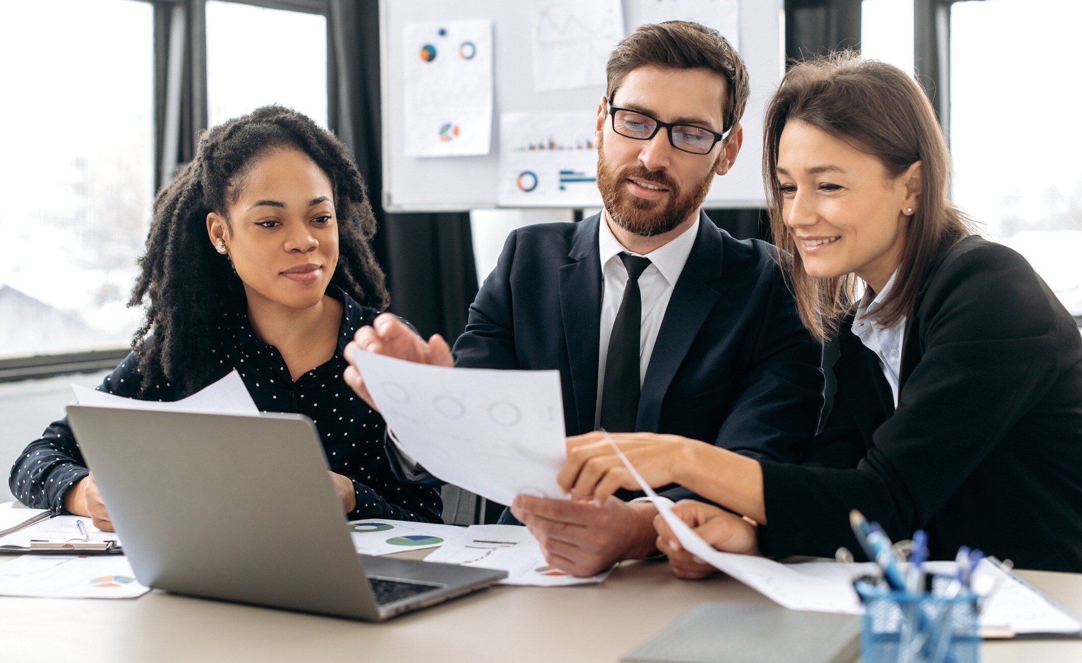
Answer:
POLYGON ((573 262, 559 268, 559 310, 575 393, 578 430, 594 429, 597 408, 597 353, 601 343, 602 266, 597 248, 601 214, 579 222, 568 253, 573 262))

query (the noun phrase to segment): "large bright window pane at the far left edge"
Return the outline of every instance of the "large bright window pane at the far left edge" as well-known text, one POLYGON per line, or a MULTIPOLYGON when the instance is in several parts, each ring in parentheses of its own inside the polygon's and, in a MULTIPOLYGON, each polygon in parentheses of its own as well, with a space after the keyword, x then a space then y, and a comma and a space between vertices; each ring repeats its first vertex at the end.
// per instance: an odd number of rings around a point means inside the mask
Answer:
POLYGON ((146 2, 0 4, 0 358, 123 347, 137 326, 153 38, 146 2))

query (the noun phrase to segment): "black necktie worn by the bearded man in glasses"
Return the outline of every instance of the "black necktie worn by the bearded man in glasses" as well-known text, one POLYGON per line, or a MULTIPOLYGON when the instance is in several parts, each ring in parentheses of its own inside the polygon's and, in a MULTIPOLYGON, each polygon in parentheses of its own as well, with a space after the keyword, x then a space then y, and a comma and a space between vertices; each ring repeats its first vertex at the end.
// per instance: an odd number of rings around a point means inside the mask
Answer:
POLYGON ((605 357, 601 425, 611 433, 632 433, 638 414, 638 342, 643 320, 638 277, 650 266, 650 258, 621 253, 620 260, 628 269, 628 284, 605 357))

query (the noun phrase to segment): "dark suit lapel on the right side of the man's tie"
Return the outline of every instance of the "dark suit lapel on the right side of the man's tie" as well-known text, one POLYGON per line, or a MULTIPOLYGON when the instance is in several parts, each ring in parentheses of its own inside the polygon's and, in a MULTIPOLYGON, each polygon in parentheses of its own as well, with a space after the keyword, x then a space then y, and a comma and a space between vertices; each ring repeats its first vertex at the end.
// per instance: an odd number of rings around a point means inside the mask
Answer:
POLYGON ((676 280, 669 307, 661 320, 654 354, 646 369, 646 380, 638 398, 635 430, 658 430, 661 403, 676 370, 687 356, 691 342, 720 295, 716 281, 722 278, 722 236, 705 213, 699 212, 699 233, 676 280))

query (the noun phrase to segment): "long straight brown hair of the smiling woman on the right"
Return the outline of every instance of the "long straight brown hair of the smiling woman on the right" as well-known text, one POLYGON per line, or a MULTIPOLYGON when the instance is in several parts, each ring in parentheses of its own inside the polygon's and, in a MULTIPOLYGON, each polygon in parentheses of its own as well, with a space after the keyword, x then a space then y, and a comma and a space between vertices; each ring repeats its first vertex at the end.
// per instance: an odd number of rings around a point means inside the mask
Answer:
POLYGON ((842 51, 793 65, 766 109, 763 127, 763 181, 774 243, 801 320, 827 341, 850 313, 859 279, 847 274, 817 279, 804 270, 800 247, 781 216, 778 143, 790 121, 800 120, 878 159, 887 178, 922 164, 921 195, 909 220, 898 281, 878 307, 876 326, 892 327, 908 316, 936 262, 972 223, 950 201, 950 153, 935 110, 913 77, 901 69, 842 51))

